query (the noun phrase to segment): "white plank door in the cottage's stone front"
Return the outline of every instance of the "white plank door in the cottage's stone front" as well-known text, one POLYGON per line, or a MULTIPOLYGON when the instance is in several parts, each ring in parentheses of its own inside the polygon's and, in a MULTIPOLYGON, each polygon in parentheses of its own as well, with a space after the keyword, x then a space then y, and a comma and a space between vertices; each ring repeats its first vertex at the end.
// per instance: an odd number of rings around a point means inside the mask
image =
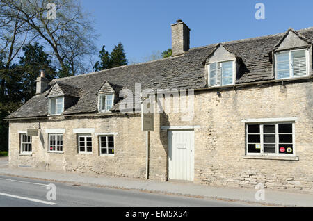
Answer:
POLYGON ((168 178, 193 181, 193 131, 168 131, 168 178))

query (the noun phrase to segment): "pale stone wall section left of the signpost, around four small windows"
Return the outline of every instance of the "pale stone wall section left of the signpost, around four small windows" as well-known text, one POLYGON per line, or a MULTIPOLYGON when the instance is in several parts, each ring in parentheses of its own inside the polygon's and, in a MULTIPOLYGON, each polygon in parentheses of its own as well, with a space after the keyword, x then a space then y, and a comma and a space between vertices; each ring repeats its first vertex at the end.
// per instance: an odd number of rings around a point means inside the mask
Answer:
MULTIPOLYGON (((57 117, 55 118, 57 119, 57 117)), ((40 170, 91 172, 127 177, 145 177, 145 133, 141 132, 140 115, 131 117, 84 118, 40 122, 42 136, 33 137, 32 156, 19 154, 19 133, 27 128, 38 129, 38 122, 10 122, 10 167, 33 167, 40 170), (92 154, 79 154, 76 128, 94 128, 92 154), (63 153, 48 152, 45 129, 65 129, 63 153), (114 156, 100 156, 97 133, 117 133, 114 136, 114 156)))

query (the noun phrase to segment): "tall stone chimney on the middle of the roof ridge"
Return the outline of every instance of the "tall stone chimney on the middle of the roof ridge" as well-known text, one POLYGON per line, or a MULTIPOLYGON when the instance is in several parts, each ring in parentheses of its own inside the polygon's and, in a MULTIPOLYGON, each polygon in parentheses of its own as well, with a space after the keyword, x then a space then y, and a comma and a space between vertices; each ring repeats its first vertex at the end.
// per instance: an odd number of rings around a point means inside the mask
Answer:
POLYGON ((182 20, 177 20, 172 28, 172 57, 184 54, 189 50, 190 29, 182 20))

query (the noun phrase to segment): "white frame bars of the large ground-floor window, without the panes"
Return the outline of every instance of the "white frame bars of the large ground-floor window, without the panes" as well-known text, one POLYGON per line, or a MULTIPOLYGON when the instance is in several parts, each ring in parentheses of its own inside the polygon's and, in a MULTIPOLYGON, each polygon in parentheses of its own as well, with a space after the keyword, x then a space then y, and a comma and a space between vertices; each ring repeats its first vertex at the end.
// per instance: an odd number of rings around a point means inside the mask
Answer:
MULTIPOLYGON (((246 123, 246 156, 296 156, 296 126, 295 126, 295 122, 249 122, 246 123), (261 149, 260 149, 260 153, 249 153, 248 152, 248 125, 259 125, 259 134, 260 136, 260 145, 261 145, 261 149), (278 124, 292 124, 292 149, 293 149, 293 153, 292 154, 280 154, 279 153, 279 134, 283 134, 283 133, 279 133, 278 131, 278 124), (264 153, 264 129, 263 126, 264 125, 275 125, 275 154, 274 153, 264 153)), ((249 133, 249 134, 253 134, 253 133, 249 133)), ((289 134, 289 133, 288 133, 289 134)))

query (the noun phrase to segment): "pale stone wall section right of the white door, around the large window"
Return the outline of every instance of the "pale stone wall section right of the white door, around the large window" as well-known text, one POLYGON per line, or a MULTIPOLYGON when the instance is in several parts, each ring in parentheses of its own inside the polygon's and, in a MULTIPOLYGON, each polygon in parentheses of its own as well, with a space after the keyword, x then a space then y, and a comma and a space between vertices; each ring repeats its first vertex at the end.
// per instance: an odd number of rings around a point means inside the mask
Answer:
POLYGON ((200 126, 195 129, 195 183, 250 188, 262 183, 265 188, 313 191, 312 104, 312 82, 220 88, 195 92, 193 121, 183 122, 181 114, 166 113, 161 125, 200 126), (272 117, 298 117, 298 161, 243 157, 245 124, 241 120, 272 117))

